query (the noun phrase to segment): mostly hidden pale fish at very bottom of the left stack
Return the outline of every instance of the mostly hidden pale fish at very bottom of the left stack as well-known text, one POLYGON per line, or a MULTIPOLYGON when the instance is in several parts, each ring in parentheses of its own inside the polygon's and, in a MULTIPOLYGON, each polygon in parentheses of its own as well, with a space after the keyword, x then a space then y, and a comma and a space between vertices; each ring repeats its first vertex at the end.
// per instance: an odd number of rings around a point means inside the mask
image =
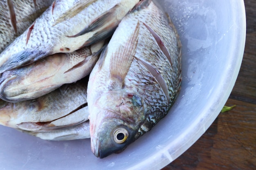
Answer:
POLYGON ((78 124, 76 126, 71 126, 69 128, 51 130, 49 132, 34 132, 27 130, 20 130, 21 132, 39 137, 43 140, 51 141, 67 141, 67 140, 77 140, 77 139, 88 139, 90 138, 90 122, 89 120, 78 124))

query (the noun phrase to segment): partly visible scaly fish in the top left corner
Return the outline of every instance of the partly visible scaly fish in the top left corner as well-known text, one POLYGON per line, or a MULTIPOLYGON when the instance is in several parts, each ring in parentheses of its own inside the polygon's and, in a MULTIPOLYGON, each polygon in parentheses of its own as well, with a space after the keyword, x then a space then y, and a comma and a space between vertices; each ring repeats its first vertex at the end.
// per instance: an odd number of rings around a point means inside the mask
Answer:
POLYGON ((22 34, 51 4, 53 0, 0 1, 0 53, 22 34))

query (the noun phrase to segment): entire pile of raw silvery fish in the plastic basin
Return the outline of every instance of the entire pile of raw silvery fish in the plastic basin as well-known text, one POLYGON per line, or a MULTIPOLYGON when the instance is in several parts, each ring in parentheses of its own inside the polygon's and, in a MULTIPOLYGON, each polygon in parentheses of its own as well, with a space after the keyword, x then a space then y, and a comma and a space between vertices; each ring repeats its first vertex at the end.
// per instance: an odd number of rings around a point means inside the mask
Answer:
POLYGON ((181 44, 153 1, 0 4, 1 125, 47 140, 90 138, 103 158, 170 110, 181 44))

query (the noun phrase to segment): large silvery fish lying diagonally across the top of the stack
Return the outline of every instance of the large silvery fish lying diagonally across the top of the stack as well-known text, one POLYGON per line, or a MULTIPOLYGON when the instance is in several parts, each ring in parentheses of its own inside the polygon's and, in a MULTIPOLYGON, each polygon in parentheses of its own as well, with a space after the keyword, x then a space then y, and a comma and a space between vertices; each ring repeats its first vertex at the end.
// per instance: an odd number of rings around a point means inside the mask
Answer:
POLYGON ((0 53, 0 73, 55 53, 71 53, 112 35, 139 0, 54 0, 0 53))

